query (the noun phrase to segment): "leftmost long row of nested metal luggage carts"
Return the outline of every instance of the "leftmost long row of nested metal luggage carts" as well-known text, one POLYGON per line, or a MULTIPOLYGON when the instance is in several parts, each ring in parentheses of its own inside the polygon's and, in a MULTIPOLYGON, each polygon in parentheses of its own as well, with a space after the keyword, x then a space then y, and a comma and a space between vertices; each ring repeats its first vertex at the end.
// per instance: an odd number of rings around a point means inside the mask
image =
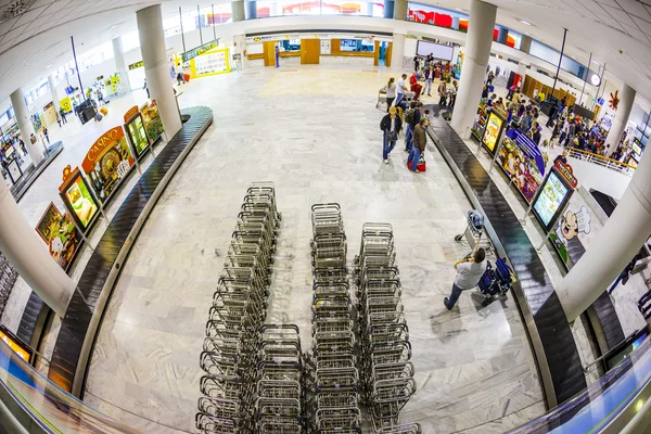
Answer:
MULTIPOLYGON (((255 398, 260 358, 275 360, 275 355, 265 352, 271 346, 260 350, 260 345, 263 339, 272 339, 261 326, 280 218, 273 184, 253 183, 238 215, 206 322, 200 358, 206 373, 201 379, 204 396, 199 399, 195 418, 202 433, 253 433, 255 411, 272 411, 256 406, 255 398)), ((265 421, 265 426, 270 426, 265 421)))

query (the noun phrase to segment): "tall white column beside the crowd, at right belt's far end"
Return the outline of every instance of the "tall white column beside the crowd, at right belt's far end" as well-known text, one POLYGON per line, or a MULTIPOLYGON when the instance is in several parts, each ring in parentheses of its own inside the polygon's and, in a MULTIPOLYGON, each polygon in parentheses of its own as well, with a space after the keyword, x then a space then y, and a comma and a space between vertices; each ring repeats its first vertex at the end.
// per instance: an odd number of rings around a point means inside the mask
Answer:
POLYGON ((480 0, 470 1, 470 24, 463 50, 465 56, 450 124, 463 139, 468 139, 470 136, 470 128, 474 123, 477 104, 482 97, 497 7, 493 4, 480 0))

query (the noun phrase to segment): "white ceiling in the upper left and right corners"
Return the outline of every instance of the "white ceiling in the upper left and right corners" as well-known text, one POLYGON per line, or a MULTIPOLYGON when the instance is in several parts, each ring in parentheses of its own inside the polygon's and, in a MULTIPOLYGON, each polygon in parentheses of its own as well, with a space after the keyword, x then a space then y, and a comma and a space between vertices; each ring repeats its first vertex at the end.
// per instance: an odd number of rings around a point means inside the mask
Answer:
MULTIPOLYGON (((197 0, 0 0, 0 99, 69 60, 71 35, 78 50, 86 51, 136 29, 135 12, 162 1, 164 14, 179 5, 210 4, 197 0), (7 16, 8 11, 20 14, 7 16)), ((465 11, 470 4, 470 0, 418 1, 465 11)), ((596 62, 607 63, 611 78, 617 77, 651 100, 651 0, 644 1, 488 0, 498 7, 499 24, 556 49, 567 28, 566 54, 587 64, 592 52, 596 62)))

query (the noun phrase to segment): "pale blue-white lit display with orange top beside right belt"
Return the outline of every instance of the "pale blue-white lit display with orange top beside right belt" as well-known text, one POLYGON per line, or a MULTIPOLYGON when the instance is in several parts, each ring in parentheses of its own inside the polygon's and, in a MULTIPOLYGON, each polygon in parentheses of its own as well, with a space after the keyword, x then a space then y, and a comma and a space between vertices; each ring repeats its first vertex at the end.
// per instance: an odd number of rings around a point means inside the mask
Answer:
POLYGON ((534 215, 540 220, 545 230, 557 222, 565 205, 576 188, 576 178, 572 167, 557 162, 533 202, 534 215))

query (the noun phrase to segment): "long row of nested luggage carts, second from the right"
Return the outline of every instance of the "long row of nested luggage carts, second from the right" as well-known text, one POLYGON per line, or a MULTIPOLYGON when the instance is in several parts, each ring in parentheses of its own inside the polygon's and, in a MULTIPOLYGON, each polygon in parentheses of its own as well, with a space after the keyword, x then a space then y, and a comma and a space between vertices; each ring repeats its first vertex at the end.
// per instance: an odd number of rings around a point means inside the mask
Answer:
POLYGON ((346 234, 337 204, 311 208, 311 432, 361 433, 354 310, 346 267, 346 234))

